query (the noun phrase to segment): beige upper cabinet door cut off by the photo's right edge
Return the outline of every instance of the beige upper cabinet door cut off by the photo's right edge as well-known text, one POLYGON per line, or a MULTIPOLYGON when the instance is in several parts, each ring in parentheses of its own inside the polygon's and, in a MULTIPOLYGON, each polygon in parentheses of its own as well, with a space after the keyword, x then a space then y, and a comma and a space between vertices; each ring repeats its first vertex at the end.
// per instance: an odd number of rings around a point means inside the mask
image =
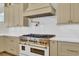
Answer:
POLYGON ((71 3, 72 23, 79 23, 79 3, 71 3))

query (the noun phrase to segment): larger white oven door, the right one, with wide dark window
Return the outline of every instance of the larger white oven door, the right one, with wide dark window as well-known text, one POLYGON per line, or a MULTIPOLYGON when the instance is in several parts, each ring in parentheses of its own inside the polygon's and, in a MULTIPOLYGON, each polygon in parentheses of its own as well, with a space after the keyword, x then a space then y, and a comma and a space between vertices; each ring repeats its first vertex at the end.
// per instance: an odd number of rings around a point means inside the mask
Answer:
POLYGON ((31 56, 49 56, 49 48, 30 45, 31 56))

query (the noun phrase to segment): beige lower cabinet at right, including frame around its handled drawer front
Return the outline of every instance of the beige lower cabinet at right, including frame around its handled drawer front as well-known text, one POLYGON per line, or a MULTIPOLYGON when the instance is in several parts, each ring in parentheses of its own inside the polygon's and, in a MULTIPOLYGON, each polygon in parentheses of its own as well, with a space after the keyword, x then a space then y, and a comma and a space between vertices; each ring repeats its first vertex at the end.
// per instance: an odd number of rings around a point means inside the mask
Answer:
POLYGON ((60 56, 79 56, 79 43, 59 42, 58 55, 60 55, 60 56))

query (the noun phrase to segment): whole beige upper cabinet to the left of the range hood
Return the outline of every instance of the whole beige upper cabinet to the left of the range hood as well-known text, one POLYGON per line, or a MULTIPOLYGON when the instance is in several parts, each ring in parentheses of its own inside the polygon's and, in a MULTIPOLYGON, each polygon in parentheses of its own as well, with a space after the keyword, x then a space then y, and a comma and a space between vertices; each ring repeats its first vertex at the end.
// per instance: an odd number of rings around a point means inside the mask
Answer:
POLYGON ((5 25, 8 27, 28 26, 27 17, 23 16, 23 12, 27 9, 27 3, 15 3, 4 7, 5 25))

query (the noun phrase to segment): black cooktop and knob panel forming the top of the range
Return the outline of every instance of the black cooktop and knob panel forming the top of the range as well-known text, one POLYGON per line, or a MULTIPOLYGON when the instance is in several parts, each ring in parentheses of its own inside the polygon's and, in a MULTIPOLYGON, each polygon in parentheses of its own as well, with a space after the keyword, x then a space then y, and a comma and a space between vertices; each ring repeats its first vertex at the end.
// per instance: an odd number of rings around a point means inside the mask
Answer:
MULTIPOLYGON (((54 36, 55 35, 53 35, 53 37, 54 36)), ((28 34, 20 36, 20 41, 47 46, 49 45, 49 37, 52 37, 52 35, 28 34)))

